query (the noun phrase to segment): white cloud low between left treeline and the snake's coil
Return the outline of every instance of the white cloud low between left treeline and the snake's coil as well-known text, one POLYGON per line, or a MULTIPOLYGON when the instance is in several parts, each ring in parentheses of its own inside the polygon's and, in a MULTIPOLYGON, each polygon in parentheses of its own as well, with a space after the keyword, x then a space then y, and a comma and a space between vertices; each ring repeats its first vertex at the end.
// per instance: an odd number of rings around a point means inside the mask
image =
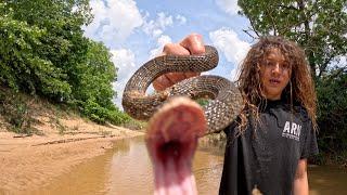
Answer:
POLYGON ((138 69, 136 66, 136 56, 131 50, 127 49, 111 50, 111 53, 113 55, 112 61, 118 68, 117 81, 113 83, 114 90, 117 91, 115 103, 119 108, 123 108, 121 98, 124 88, 132 74, 138 69))

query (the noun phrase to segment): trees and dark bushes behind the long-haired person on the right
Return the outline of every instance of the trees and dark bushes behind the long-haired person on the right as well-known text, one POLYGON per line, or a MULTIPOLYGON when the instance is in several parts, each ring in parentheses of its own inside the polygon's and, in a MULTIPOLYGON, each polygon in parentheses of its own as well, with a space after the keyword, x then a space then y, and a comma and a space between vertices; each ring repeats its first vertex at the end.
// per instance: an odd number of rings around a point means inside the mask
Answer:
POLYGON ((319 144, 336 153, 347 148, 347 1, 239 0, 250 37, 280 35, 301 46, 318 91, 319 144))

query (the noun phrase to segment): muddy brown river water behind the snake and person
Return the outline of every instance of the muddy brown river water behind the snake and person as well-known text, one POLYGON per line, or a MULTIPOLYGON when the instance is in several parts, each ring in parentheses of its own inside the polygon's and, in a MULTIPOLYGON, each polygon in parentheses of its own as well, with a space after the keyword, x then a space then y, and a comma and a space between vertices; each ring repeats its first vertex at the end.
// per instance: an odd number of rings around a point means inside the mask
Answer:
MULTIPOLYGON (((218 194, 222 162, 222 146, 201 144, 193 161, 200 194, 218 194)), ((309 183, 312 195, 347 194, 347 169, 309 167, 309 183)), ((143 138, 119 140, 105 155, 29 194, 153 194, 152 164, 143 138)))

